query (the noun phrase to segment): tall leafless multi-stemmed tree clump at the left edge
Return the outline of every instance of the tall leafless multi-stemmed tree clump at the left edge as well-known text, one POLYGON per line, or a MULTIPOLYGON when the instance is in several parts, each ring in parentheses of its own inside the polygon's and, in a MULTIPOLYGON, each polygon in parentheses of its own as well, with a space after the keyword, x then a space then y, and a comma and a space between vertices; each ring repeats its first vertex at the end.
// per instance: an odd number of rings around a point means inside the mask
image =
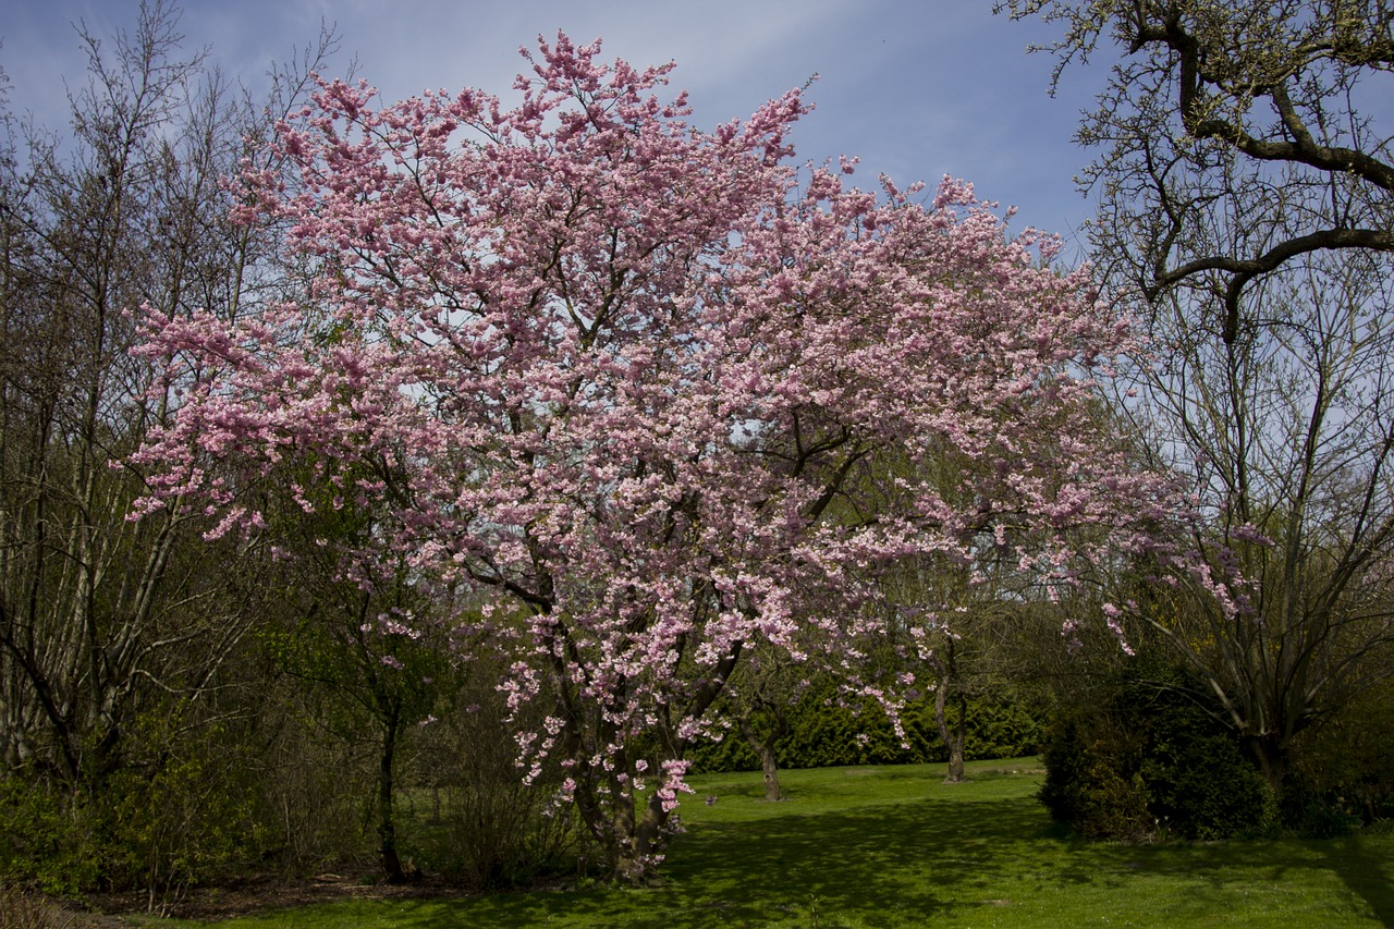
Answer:
POLYGON ((71 137, 6 123, 0 757, 66 784, 120 766, 151 700, 198 706, 248 629, 223 583, 245 545, 209 545, 185 516, 128 520, 149 488, 116 467, 178 403, 152 391, 159 360, 131 353, 142 318, 237 315, 277 280, 258 271, 266 232, 229 222, 220 184, 270 120, 204 53, 180 56, 177 25, 158 0, 110 50, 78 27, 71 137))

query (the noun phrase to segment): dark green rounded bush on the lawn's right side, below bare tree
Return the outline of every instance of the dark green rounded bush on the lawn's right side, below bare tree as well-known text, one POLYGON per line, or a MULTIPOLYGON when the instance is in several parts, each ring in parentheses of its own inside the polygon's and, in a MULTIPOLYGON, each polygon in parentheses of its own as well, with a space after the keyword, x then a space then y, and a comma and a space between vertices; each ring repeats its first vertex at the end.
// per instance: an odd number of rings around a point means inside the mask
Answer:
POLYGON ((1269 829, 1267 783, 1175 672, 1135 665, 1066 709, 1046 745, 1040 799, 1090 838, 1216 840, 1269 829))

